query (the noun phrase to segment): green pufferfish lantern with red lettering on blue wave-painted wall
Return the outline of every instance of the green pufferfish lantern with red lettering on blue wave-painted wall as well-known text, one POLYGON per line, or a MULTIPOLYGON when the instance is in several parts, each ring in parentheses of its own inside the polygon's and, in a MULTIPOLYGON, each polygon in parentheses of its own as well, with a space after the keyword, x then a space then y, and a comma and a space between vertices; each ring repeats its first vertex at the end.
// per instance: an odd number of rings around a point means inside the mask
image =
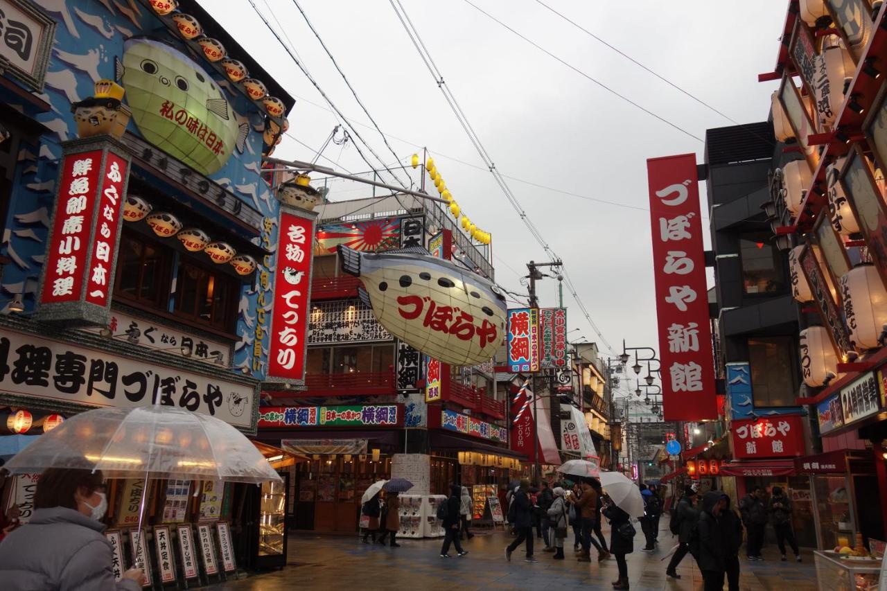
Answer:
POLYGON ((249 133, 224 91, 197 62, 168 43, 132 37, 114 58, 132 118, 146 140, 204 175, 221 169, 249 133))

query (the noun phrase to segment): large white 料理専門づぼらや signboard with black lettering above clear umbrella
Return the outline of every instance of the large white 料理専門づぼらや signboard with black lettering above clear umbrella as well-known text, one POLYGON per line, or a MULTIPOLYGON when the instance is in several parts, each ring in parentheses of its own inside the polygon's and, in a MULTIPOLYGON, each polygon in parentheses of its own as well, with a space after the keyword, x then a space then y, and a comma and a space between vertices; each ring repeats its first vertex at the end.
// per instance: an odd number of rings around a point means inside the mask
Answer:
POLYGON ((59 405, 158 404, 252 429, 256 386, 110 351, 0 330, 0 391, 59 405))

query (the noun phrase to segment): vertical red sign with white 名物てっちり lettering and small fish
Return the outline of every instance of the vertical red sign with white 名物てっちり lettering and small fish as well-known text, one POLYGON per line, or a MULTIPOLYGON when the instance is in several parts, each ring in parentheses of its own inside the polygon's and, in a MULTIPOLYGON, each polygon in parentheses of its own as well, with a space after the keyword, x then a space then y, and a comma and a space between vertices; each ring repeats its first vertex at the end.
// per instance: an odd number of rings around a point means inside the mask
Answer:
POLYGON ((268 382, 305 382, 305 346, 308 303, 311 291, 311 211, 280 206, 277 268, 274 271, 274 309, 271 315, 271 347, 268 382))

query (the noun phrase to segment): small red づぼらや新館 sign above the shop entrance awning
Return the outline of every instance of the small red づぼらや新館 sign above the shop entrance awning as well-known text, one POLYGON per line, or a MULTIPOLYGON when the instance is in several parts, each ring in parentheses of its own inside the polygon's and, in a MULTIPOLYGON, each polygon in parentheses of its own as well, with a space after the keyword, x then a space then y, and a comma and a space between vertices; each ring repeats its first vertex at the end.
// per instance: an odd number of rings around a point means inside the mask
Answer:
POLYGON ((793 458, 804 454, 804 427, 796 414, 757 421, 735 420, 730 433, 736 459, 793 458))

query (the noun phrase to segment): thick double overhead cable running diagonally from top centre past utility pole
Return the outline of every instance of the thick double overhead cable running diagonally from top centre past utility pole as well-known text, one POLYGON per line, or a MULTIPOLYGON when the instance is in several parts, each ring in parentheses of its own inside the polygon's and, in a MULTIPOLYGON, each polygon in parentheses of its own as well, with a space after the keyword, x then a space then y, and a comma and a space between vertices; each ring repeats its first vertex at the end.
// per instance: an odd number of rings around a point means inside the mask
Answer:
MULTIPOLYGON (((545 250, 548 256, 551 256, 555 260, 561 260, 560 256, 557 256, 553 248, 551 248, 546 242, 545 238, 542 236, 542 233, 539 232, 538 227, 533 224, 532 219, 527 216, 527 213, 521 207, 520 201, 517 200, 517 197, 511 191, 511 188, 506 183, 505 178, 498 172, 496 169, 496 165, 492 162, 490 154, 483 147, 483 144, 480 138, 477 136, 474 128, 467 121, 467 116, 465 112, 459 106, 458 101, 452 95, 449 87, 443 83, 443 75, 440 70, 434 64, 433 59, 431 59, 430 53, 428 52, 428 48, 425 46, 425 43, 421 41, 421 35, 419 35, 419 31, 416 30, 414 26, 412 26, 412 21, 409 20, 409 17, 406 16, 406 11, 404 10, 403 4, 400 3, 400 0, 389 0, 389 4, 391 4, 391 8, 394 9, 397 19, 400 20, 401 24, 404 26, 404 30, 406 31, 407 36, 410 37, 413 46, 416 48, 416 51, 419 52, 422 61, 425 63, 426 67, 428 67, 428 72, 431 74, 432 78, 434 78, 437 87, 443 93, 443 97, 446 98, 447 103, 450 105, 450 108, 453 114, 456 115, 456 119, 459 121, 459 124, 462 126, 462 129, 465 130, 468 138, 471 140, 471 143, 475 146, 477 153, 480 154, 483 163, 490 170, 491 175, 496 180, 499 188, 502 190, 502 193, 505 194, 506 199, 511 203, 514 210, 517 212, 518 216, 521 217, 523 224, 527 226, 527 229, 530 231, 530 234, 533 238, 539 243, 539 245, 545 250), (398 7, 400 10, 398 11, 398 7), (401 15, 403 12, 403 16, 401 15), (408 24, 409 23, 409 24, 408 24), (415 35, 415 36, 413 36, 415 35), (424 48, 425 52, 423 53, 422 49, 424 48), (428 57, 426 58, 426 55, 428 57)), ((604 335, 600 332, 600 328, 594 323, 591 314, 588 313, 588 310, 585 308, 585 304, 577 296, 577 289, 575 284, 573 284, 572 280, 569 278, 569 274, 567 272, 567 268, 565 266, 561 266, 561 272, 564 276, 564 280, 567 282, 567 286, 569 288, 570 294, 573 296, 574 301, 577 303, 577 307, 579 311, 585 316, 585 319, 588 321, 588 324, 593 328, 595 334, 600 337, 600 342, 607 347, 607 349, 615 355, 616 352, 613 350, 613 347, 608 343, 607 339, 604 338, 604 335)))

